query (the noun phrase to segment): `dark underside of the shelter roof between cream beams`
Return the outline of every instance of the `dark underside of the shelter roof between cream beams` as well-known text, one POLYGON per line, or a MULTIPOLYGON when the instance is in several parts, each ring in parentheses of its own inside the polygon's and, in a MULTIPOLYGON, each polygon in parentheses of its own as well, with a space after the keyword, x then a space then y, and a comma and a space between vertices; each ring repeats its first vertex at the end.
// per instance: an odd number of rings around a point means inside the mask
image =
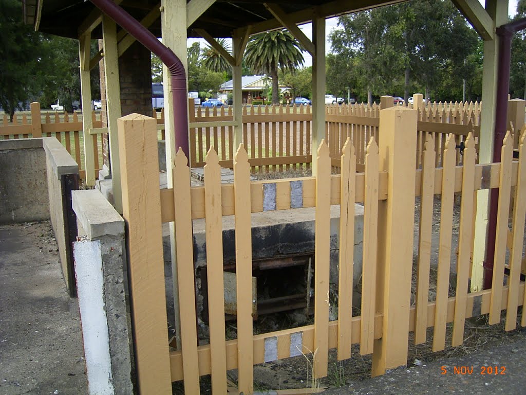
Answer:
MULTIPOLYGON (((382 5, 407 0, 272 0, 271 6, 279 6, 290 21, 301 24, 310 22, 315 14, 325 17, 362 11, 382 5)), ((187 0, 189 3, 190 0, 187 0)), ((269 11, 268 0, 216 0, 187 29, 188 37, 200 37, 194 29, 205 29, 212 37, 231 37, 232 31, 250 26, 251 33, 278 29, 282 24, 269 11)), ((78 38, 79 26, 89 17, 99 13, 95 5, 85 0, 23 0, 24 21, 39 31, 63 37, 78 38)), ((159 8, 159 0, 123 0, 120 3, 138 21, 149 12, 159 8)), ((161 36, 160 16, 149 27, 157 37, 161 36)), ((92 32, 92 38, 101 38, 100 25, 92 32)))

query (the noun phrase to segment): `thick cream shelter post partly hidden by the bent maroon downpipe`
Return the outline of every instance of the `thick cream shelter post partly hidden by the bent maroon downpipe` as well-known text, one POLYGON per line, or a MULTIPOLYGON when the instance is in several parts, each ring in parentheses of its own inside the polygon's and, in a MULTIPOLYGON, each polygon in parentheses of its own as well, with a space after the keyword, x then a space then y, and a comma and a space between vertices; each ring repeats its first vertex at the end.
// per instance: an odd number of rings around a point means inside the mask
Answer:
MULTIPOLYGON (((186 0, 162 0, 161 1, 161 33, 163 44, 169 47, 180 59, 188 72, 188 62, 186 53, 186 0)), ((188 85, 188 73, 187 73, 188 85)), ((174 97, 171 94, 170 73, 166 66, 163 66, 163 85, 165 100, 165 135, 166 135, 166 166, 171 169, 177 152, 174 132, 174 97)), ((183 105, 183 103, 180 103, 183 105)), ((189 163, 193 158, 188 158, 189 163)), ((168 188, 174 187, 174 178, 170 170, 167 169, 168 188)), ((179 319, 179 292, 177 289, 177 254, 175 248, 175 227, 174 222, 170 222, 170 255, 172 275, 174 279, 174 311, 175 311, 175 330, 177 348, 181 347, 180 319, 179 319)))

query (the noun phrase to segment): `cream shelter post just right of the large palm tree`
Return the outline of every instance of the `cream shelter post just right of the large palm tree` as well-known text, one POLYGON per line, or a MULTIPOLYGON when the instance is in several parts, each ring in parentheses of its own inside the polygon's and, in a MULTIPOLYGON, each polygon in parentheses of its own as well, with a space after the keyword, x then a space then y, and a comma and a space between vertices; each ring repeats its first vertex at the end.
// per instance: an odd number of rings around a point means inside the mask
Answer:
MULTIPOLYGON (((318 149, 325 139, 325 17, 312 19, 312 147, 318 149)), ((316 174, 316 161, 312 161, 312 174, 316 174)))

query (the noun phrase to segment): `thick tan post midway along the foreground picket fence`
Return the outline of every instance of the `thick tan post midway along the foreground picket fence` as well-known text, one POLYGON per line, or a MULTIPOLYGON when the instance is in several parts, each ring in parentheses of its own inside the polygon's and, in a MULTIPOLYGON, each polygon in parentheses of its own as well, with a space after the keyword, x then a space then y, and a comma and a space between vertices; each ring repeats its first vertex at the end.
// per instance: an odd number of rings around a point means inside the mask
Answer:
POLYGON ((417 111, 380 111, 380 171, 388 171, 387 201, 378 205, 377 311, 382 338, 375 340, 372 376, 407 363, 413 261, 417 111), (412 191, 410 193, 410 191, 412 191), (400 232, 400 224, 409 228, 400 232))

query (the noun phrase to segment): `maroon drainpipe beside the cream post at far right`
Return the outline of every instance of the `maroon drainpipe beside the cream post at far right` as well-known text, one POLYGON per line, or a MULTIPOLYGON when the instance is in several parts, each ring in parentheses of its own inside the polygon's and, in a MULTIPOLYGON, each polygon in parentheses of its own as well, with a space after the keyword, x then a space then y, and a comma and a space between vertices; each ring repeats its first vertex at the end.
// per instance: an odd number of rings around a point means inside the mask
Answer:
MULTIPOLYGON (((497 28, 500 37, 499 71, 497 76, 497 108, 495 114, 495 137, 493 142, 493 162, 501 161, 501 147, 508 125, 508 92, 510 88, 511 39, 513 34, 526 28, 526 18, 497 28)), ((517 133, 518 131, 516 131, 517 133)), ((493 281, 493 261, 495 259, 495 238, 497 236, 497 213, 499 210, 499 189, 491 190, 488 223, 488 248, 484 260, 483 289, 490 289, 493 281)))

